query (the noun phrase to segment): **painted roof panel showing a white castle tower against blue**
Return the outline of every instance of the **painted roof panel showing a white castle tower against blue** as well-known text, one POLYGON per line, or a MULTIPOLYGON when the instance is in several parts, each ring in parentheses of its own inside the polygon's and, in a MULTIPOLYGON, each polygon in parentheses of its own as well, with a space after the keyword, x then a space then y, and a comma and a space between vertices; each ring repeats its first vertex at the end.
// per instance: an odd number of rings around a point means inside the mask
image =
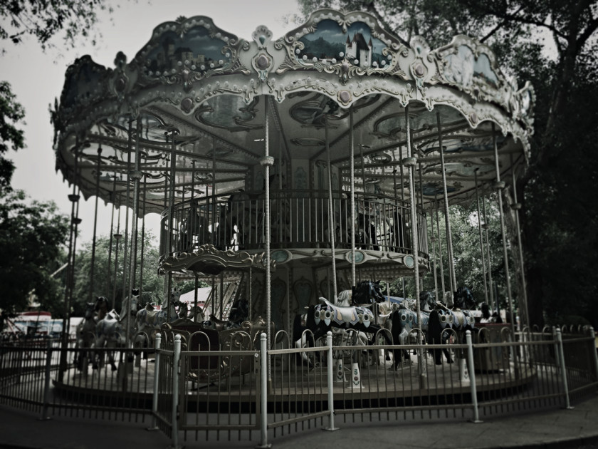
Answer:
POLYGON ((333 20, 318 23, 318 29, 299 39, 304 48, 295 51, 303 62, 336 63, 343 58, 362 68, 385 68, 389 58, 382 55, 386 45, 372 36, 372 31, 363 22, 351 24, 347 31, 333 20))

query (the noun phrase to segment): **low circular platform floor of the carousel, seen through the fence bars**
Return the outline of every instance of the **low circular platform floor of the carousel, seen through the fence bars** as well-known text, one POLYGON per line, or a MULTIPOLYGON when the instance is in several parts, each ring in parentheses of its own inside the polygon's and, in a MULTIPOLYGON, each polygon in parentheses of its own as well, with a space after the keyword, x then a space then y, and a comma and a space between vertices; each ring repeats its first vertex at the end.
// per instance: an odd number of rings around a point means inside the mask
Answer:
MULTIPOLYGON (((384 355, 362 356, 355 373, 352 358, 344 358, 342 367, 334 361, 332 377, 335 408, 380 408, 401 406, 434 406, 442 404, 471 403, 471 384, 467 364, 453 356, 454 363, 442 359, 441 365, 426 353, 425 366, 419 369, 418 356, 409 351, 409 360, 399 363, 386 360, 384 355), (421 371, 421 372, 420 372, 421 371)), ((295 361, 298 354, 271 356, 270 381, 268 382, 268 408, 290 411, 298 409, 318 411, 327 408, 326 353, 321 362, 305 366, 295 361)), ((89 366, 85 372, 69 368, 62 381, 54 381, 54 394, 65 401, 76 401, 92 406, 122 406, 150 409, 154 391, 154 356, 147 360, 117 361, 117 370, 106 364, 100 369, 89 366)), ((241 357, 238 357, 241 358, 241 357)), ((233 363, 228 368, 203 370, 189 358, 185 368, 186 381, 179 386, 182 401, 190 410, 253 411, 259 398, 258 358, 249 356, 237 363, 248 363, 249 369, 241 375, 233 363), (194 366, 195 365, 195 366, 194 366), (231 373, 231 375, 227 375, 231 373), (237 371, 238 372, 238 371, 237 371)), ((172 365, 172 361, 168 361, 172 365)), ((518 358, 515 362, 503 357, 500 368, 480 369, 476 363, 476 390, 488 400, 517 393, 533 383, 537 369, 518 358)), ((495 366, 495 363, 492 365, 495 366)), ((172 370, 162 371, 159 392, 172 395, 172 370)), ((542 375, 542 373, 540 373, 542 375)))

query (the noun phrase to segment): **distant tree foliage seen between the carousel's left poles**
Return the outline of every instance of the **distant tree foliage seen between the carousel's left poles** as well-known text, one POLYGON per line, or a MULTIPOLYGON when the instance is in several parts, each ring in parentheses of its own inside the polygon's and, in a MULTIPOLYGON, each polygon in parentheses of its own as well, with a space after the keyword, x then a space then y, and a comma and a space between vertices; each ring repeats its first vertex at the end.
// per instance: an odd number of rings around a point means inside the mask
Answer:
MULTIPOLYGON (((131 239, 127 240, 129 243, 131 239)), ((140 305, 143 304, 162 304, 162 296, 164 295, 164 277, 158 276, 158 259, 159 250, 155 246, 156 238, 151 233, 145 234, 145 242, 143 249, 143 267, 141 266, 141 242, 138 244, 137 254, 137 273, 135 274, 135 284, 133 288, 139 287, 140 274, 143 270, 143 285, 142 294, 140 297, 140 305)), ((79 249, 75 255, 75 287, 73 289, 73 303, 71 304, 73 315, 82 316, 85 311, 85 303, 94 301, 95 296, 105 296, 109 304, 112 304, 112 298, 115 297, 115 309, 120 311, 120 304, 122 302, 122 279, 123 266, 122 257, 125 254, 125 239, 120 239, 118 242, 118 261, 115 284, 115 255, 116 255, 115 239, 112 239, 112 253, 110 257, 110 267, 108 266, 108 256, 110 253, 110 237, 100 235, 95 242, 95 261, 93 264, 93 291, 91 289, 91 255, 92 243, 88 242, 79 249), (116 296, 113 296, 114 292, 116 296)), ((127 251, 130 255, 130 248, 127 251)), ((127 263, 125 279, 128 288, 129 264, 127 263)), ((128 294, 128 292, 127 292, 128 294)))

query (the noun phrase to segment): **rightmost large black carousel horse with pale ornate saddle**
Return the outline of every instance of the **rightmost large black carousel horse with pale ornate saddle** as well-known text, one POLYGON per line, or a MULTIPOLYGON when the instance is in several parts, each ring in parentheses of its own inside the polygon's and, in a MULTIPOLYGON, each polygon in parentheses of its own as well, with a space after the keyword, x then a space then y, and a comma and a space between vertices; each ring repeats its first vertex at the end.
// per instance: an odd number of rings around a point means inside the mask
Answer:
MULTIPOLYGON (((429 339, 431 344, 443 344, 446 340, 447 329, 455 332, 458 343, 465 341, 466 331, 476 330, 476 319, 473 317, 470 309, 476 306, 471 290, 467 287, 459 287, 453 294, 453 308, 441 306, 430 313, 429 318, 429 339)), ((440 365, 441 351, 434 349, 434 362, 440 365)), ((463 354, 459 353, 459 358, 463 354)))

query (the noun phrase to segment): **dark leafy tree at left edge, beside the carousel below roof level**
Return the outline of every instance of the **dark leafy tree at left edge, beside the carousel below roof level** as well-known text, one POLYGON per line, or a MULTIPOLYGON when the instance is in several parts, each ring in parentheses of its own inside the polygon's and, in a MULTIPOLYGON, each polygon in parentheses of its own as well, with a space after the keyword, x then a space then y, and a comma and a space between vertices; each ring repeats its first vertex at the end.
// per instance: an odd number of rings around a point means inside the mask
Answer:
POLYGON ((43 309, 56 309, 60 279, 51 274, 65 261, 68 217, 54 202, 28 202, 25 192, 0 198, 0 309, 2 316, 23 311, 31 291, 43 309))

